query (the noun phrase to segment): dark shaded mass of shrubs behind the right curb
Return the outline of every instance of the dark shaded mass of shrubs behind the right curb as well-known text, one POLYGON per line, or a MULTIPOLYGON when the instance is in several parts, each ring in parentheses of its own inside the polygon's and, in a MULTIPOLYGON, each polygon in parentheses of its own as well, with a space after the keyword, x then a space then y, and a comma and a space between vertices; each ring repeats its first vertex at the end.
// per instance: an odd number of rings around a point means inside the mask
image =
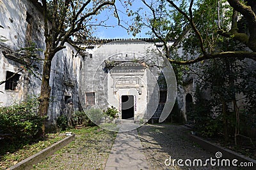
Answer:
POLYGON ((230 58, 209 60, 200 68, 200 88, 196 88, 196 103, 188 113, 189 119, 195 120, 195 130, 211 137, 225 132, 224 129, 232 136, 236 128, 240 134, 248 134, 248 129, 255 127, 255 69, 244 60, 230 58), (211 101, 202 97, 205 90, 210 92, 211 101), (245 99, 246 105, 239 108, 237 124, 233 103, 240 99, 245 99), (227 110, 223 110, 223 103, 227 110))

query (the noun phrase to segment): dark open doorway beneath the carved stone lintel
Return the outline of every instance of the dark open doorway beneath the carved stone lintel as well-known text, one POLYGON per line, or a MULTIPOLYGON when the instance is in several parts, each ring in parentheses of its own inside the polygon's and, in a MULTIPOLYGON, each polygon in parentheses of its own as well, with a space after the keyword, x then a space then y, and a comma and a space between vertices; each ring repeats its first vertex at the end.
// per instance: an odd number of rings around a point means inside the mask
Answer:
POLYGON ((122 119, 134 117, 134 97, 122 96, 122 119))

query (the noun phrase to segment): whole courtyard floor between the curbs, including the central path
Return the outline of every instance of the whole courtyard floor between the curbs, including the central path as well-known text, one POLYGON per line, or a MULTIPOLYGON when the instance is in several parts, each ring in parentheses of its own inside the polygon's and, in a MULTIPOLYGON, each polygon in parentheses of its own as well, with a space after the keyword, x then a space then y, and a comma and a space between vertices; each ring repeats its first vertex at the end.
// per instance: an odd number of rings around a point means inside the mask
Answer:
POLYGON ((170 156, 177 160, 215 157, 214 153, 189 141, 189 129, 182 125, 147 124, 140 127, 138 133, 135 129, 118 133, 117 136, 116 132, 99 127, 74 132, 77 133, 75 141, 33 169, 235 169, 166 166, 165 160, 170 156))

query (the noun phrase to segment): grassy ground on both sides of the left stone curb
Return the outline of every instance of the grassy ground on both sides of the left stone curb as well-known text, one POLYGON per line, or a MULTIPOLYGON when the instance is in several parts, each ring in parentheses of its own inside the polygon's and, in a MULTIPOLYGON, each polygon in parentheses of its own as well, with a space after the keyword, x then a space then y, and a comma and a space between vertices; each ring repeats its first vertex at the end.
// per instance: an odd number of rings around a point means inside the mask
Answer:
MULTIPOLYGON (((112 125, 111 125, 112 126, 112 125)), ((116 132, 106 131, 100 127, 84 127, 82 129, 68 129, 74 134, 76 134, 76 140, 72 141, 69 145, 65 146, 61 150, 54 153, 54 159, 45 159, 42 163, 35 165, 35 169, 67 169, 67 165, 63 164, 63 160, 69 160, 67 154, 71 155, 83 155, 85 154, 88 159, 84 159, 83 162, 86 163, 86 168, 97 169, 104 166, 104 161, 108 159, 111 146, 116 138, 116 132), (99 162, 96 162, 100 159, 99 162), (62 162, 61 164, 58 164, 62 162)), ((63 132, 61 132, 63 133, 63 132)), ((65 135, 58 134, 47 134, 47 138, 42 141, 36 141, 34 143, 29 143, 29 141, 8 143, 5 141, 0 144, 0 169, 8 169, 9 167, 17 164, 21 160, 24 160, 35 153, 40 152, 44 148, 51 146, 53 143, 60 141, 65 138, 65 135)), ((2 141, 3 142, 3 141, 2 141)), ((84 157, 84 156, 83 156, 84 157)), ((81 157, 81 159, 83 159, 81 157)), ((75 168, 77 162, 68 165, 70 168, 75 168)), ((85 166, 85 165, 80 165, 85 166)))

